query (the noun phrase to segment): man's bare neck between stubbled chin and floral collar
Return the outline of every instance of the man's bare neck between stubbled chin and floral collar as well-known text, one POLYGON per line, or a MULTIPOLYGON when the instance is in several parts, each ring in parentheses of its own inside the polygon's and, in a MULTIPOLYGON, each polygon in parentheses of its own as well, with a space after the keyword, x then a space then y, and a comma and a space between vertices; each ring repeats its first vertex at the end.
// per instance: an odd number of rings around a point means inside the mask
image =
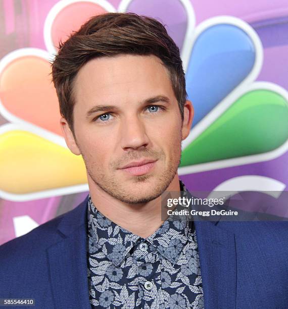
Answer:
MULTIPOLYGON (((98 185, 89 183, 93 204, 106 218, 142 238, 152 235, 163 223, 161 218, 161 195, 142 204, 124 203, 98 185)), ((180 191, 179 178, 176 174, 166 191, 180 191)))

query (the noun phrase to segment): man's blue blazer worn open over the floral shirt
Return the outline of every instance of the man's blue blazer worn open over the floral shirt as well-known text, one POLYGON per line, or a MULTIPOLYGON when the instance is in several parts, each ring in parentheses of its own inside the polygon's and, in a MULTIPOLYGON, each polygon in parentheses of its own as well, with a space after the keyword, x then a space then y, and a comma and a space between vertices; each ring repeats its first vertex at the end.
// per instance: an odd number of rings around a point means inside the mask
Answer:
MULTIPOLYGON (((86 199, 0 246, 0 298, 88 309, 86 199)), ((195 222, 205 309, 288 308, 288 222, 195 222)), ((18 308, 18 307, 17 307, 18 308)))

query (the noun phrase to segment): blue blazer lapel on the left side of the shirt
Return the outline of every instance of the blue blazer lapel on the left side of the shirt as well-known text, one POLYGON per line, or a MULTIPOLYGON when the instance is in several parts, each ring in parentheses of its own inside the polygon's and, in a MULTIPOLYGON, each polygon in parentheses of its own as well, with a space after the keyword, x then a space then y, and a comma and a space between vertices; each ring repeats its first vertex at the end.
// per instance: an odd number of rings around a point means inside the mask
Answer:
POLYGON ((87 199, 65 214, 57 243, 47 249, 55 308, 90 309, 87 279, 87 199))

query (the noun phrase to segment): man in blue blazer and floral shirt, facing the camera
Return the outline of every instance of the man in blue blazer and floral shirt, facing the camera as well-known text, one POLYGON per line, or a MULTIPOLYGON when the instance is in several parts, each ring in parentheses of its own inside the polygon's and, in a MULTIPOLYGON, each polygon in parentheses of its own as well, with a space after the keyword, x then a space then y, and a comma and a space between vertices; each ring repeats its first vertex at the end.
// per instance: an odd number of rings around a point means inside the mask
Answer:
POLYGON ((93 17, 53 63, 89 194, 0 247, 0 296, 37 308, 287 308, 285 223, 161 220, 190 131, 179 49, 158 21, 93 17))

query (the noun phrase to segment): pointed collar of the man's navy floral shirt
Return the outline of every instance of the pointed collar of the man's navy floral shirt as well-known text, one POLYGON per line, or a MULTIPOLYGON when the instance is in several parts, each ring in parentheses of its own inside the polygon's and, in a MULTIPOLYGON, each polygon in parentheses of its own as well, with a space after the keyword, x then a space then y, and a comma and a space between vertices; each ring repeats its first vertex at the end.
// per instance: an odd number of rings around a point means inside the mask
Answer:
MULTIPOLYGON (((183 194, 187 194, 188 191, 184 183, 179 180, 179 184, 183 194)), ((93 204, 90 195, 87 220, 89 253, 95 254, 102 251, 115 266, 119 266, 130 250, 143 241, 151 244, 153 250, 157 250, 163 258, 175 264, 191 233, 191 222, 187 217, 182 216, 180 220, 176 220, 173 216, 169 216, 152 235, 142 238, 100 213, 93 204)))

